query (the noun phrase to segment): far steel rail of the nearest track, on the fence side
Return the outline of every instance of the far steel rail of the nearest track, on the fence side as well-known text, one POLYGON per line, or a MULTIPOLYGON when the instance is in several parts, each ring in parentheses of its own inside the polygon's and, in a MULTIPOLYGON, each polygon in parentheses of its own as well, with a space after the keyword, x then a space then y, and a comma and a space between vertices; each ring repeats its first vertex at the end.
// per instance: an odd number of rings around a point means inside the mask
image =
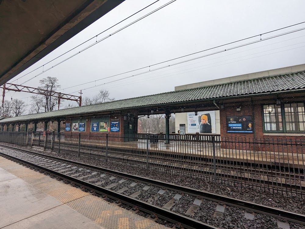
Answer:
MULTIPOLYGON (((275 208, 275 207, 265 206, 265 205, 253 203, 253 202, 250 202, 250 201, 239 200, 239 199, 231 198, 231 197, 228 197, 228 196, 209 193, 209 192, 202 191, 202 190, 196 190, 196 189, 188 188, 188 187, 185 187, 185 186, 178 186, 178 185, 175 185, 175 184, 170 184, 170 183, 166 183, 166 182, 162 182, 162 181, 158 181, 158 180, 152 180, 152 179, 148 179, 148 178, 145 178, 145 177, 140 177, 140 176, 131 175, 131 174, 123 173, 123 172, 118 172, 118 171, 114 171, 114 170, 110 170, 110 169, 106 169, 106 168, 97 167, 97 166, 94 166, 94 165, 88 165, 88 164, 84 164, 84 163, 77 162, 77 161, 70 161, 70 160, 63 159, 63 158, 57 158, 57 157, 54 157, 54 156, 49 156, 49 155, 46 155, 46 154, 36 153, 36 152, 28 151, 28 150, 23 150, 23 149, 11 147, 11 146, 5 146, 5 145, 2 145, 2 144, 0 144, 0 146, 6 147, 6 148, 11 148, 11 149, 18 150, 18 151, 27 152, 27 153, 30 153, 30 154, 36 154, 36 155, 39 155, 39 156, 43 156, 43 157, 46 157, 46 158, 67 162, 67 163, 74 164, 74 165, 79 165, 79 166, 82 166, 82 167, 95 169, 95 170, 106 172, 106 173, 109 173, 109 174, 112 174, 112 175, 117 175, 117 176, 129 178, 131 180, 136 180, 136 181, 143 182, 143 183, 148 183, 148 184, 158 186, 158 187, 161 187, 161 188, 165 187, 169 190, 173 190, 173 191, 176 191, 176 192, 182 192, 182 193, 185 193, 185 194, 188 194, 188 195, 198 196, 198 197, 201 197, 201 198, 206 199, 206 200, 211 200, 211 201, 214 201, 214 202, 224 203, 226 205, 235 206, 235 207, 242 208, 242 209, 245 209, 245 210, 251 210, 251 211, 256 212, 256 213, 261 213, 261 214, 269 215, 269 216, 276 217, 276 218, 282 218, 282 219, 285 219, 287 221, 291 221, 291 222, 295 222, 295 223, 298 223, 298 224, 305 225, 305 215, 303 215, 303 214, 294 213, 294 212, 290 212, 290 211, 287 211, 287 210, 282 210, 282 209, 275 208)), ((0 154, 7 155, 7 154, 2 153, 2 152, 0 152, 0 154)), ((44 167, 42 167, 42 168, 44 168, 44 167)), ((65 178, 65 179, 67 179, 67 178, 65 178)), ((80 180, 80 182, 84 182, 84 181, 80 180)), ((92 184, 90 184, 90 185, 92 185, 92 184)), ((97 186, 97 187, 99 187, 99 186, 97 186)), ((106 190, 108 190, 108 189, 106 189, 106 190)), ((110 191, 110 190, 108 190, 108 191, 110 191)))

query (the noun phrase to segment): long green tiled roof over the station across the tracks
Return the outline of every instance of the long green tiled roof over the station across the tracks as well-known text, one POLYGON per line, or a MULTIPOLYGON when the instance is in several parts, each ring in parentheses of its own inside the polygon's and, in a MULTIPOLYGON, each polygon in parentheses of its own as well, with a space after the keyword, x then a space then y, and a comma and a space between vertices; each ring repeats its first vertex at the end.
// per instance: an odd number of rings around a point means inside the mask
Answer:
POLYGON ((121 99, 113 102, 100 103, 90 106, 74 107, 46 113, 23 115, 0 120, 0 123, 45 119, 71 116, 84 113, 96 113, 118 109, 136 108, 142 106, 156 106, 176 102, 191 102, 202 99, 218 99, 237 95, 251 95, 264 92, 289 91, 305 89, 305 72, 286 75, 275 75, 263 78, 236 81, 199 88, 164 92, 131 99, 121 99))

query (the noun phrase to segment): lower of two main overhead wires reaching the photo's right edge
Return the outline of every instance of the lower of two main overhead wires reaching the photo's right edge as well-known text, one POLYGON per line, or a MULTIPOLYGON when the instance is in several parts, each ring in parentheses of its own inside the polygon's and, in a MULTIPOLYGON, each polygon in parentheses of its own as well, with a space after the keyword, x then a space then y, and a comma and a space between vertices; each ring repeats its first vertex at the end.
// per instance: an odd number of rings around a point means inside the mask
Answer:
MULTIPOLYGON (((239 48, 239 47, 244 47, 244 46, 247 46, 247 45, 250 45, 250 44, 253 44, 253 43, 258 43, 258 42, 261 42, 261 41, 270 40, 270 39, 273 39, 273 38, 276 38, 276 37, 279 37, 279 36, 283 36, 283 35, 287 35, 287 34, 290 34, 290 33, 298 32, 298 31, 301 31, 301 30, 304 30, 304 29, 305 28, 301 28, 301 29, 296 29, 296 30, 289 31, 289 32, 286 32, 286 33, 282 33, 282 34, 279 34, 279 35, 274 35, 274 36, 271 36, 271 37, 264 38, 262 40, 257 40, 257 41, 249 42, 249 43, 238 45, 238 46, 235 46, 235 47, 232 47, 232 48, 220 50, 220 51, 217 51, 217 52, 214 52, 214 53, 211 53, 211 54, 206 54, 206 55, 203 55, 203 56, 200 56, 200 57, 195 57, 195 58, 192 58, 192 59, 188 59, 188 60, 181 61, 181 62, 178 62, 178 63, 170 64, 170 65, 163 66, 163 67, 160 67, 160 68, 156 68, 156 69, 153 69, 153 70, 144 71, 144 72, 141 72, 141 73, 138 73, 138 74, 135 74, 135 75, 123 77, 123 78, 120 78, 120 79, 117 79, 117 80, 113 80, 111 82, 117 82, 117 81, 120 81, 120 80, 123 80, 123 79, 131 78, 131 77, 134 77, 134 76, 137 76, 137 75, 142 75, 142 74, 145 74, 145 73, 148 73, 148 72, 152 72, 152 71, 156 71, 156 70, 163 69, 163 68, 168 68, 170 66, 174 66, 174 65, 185 63, 185 62, 188 62, 188 61, 196 60, 196 59, 199 59, 199 58, 202 58, 202 57, 207 57, 207 56, 211 56, 211 55, 214 55, 214 54, 222 53, 222 52, 225 52, 225 51, 228 51, 228 50, 233 50, 233 49, 236 49, 236 48, 239 48)), ((208 49, 208 50, 210 50, 210 49, 208 49)), ((124 74, 124 73, 121 73, 121 74, 124 74)), ((121 74, 118 74, 118 75, 121 75, 121 74)), ((114 76, 117 76, 117 75, 114 75, 114 76)), ((102 79, 111 78, 111 77, 113 77, 113 76, 105 77, 105 78, 102 78, 102 79)), ((99 79, 99 80, 102 80, 102 79, 99 79)), ((99 80, 91 81, 91 82, 88 82, 88 83, 96 82, 96 81, 99 81, 99 80)), ((87 83, 71 86, 71 87, 68 87, 68 88, 73 88, 73 87, 84 85, 84 84, 87 84, 87 83)), ((88 87, 88 88, 84 88, 82 90, 87 90, 87 89, 98 87, 98 86, 101 86, 101 85, 104 85, 104 84, 106 84, 106 83, 95 85, 95 86, 91 86, 91 87, 88 87)), ((63 88, 61 90, 68 89, 68 88, 63 88)))

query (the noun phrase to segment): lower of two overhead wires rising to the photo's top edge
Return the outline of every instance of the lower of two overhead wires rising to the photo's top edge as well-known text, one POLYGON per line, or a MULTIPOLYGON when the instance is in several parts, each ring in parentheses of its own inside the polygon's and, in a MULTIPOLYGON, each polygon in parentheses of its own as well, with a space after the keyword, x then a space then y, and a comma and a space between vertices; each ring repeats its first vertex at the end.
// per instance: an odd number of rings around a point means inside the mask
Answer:
POLYGON ((84 48, 83 50, 79 51, 78 53, 73 54, 72 56, 70 56, 70 57, 66 58, 66 59, 65 59, 65 60, 63 60, 63 61, 60 61, 59 63, 55 64, 54 66, 52 66, 52 67, 50 67, 50 68, 48 68, 47 70, 45 70, 45 71, 43 71, 43 72, 39 73, 38 75, 36 75, 36 76, 34 76, 34 77, 32 77, 32 78, 28 79, 27 81, 23 82, 22 84, 24 84, 24 83, 26 83, 26 82, 29 82, 30 80, 32 80, 32 79, 36 78, 37 76, 39 76, 39 75, 41 75, 41 74, 45 73, 46 71, 48 71, 48 70, 50 70, 50 69, 52 69, 52 68, 56 67, 57 65, 59 65, 59 64, 61 64, 61 63, 65 62, 65 61, 69 60, 70 58, 72 58, 72 57, 76 56, 77 54, 80 54, 81 52, 83 52, 83 51, 85 51, 85 50, 87 50, 87 49, 91 48, 92 46, 94 46, 94 45, 96 45, 96 44, 100 43, 101 41, 103 41, 103 40, 105 40, 105 39, 109 38, 110 36, 113 36, 114 34, 116 34, 116 33, 120 32, 120 31, 122 31, 123 29, 126 29, 127 27, 129 27, 129 26, 131 26, 131 25, 135 24, 136 22, 138 22, 138 21, 140 21, 140 20, 142 20, 142 19, 146 18, 147 16, 149 16, 149 15, 151 15, 151 14, 153 14, 153 13, 157 12, 158 10, 163 9, 165 6, 170 5, 171 3, 175 2, 175 1, 177 1, 177 0, 171 0, 170 2, 166 3, 165 5, 160 6, 158 9, 153 10, 152 12, 150 12, 150 13, 146 14, 145 16, 142 16, 141 18, 139 18, 139 19, 137 19, 137 20, 133 21, 132 23, 129 23, 127 26, 124 26, 123 28, 121 28, 121 29, 119 29, 119 30, 117 30, 117 31, 115 31, 115 32, 113 32, 113 33, 111 33, 111 34, 109 34, 108 36, 106 36, 106 37, 104 37, 104 38, 100 39, 99 41, 96 41, 95 43, 93 43, 93 44, 89 45, 88 47, 84 48))

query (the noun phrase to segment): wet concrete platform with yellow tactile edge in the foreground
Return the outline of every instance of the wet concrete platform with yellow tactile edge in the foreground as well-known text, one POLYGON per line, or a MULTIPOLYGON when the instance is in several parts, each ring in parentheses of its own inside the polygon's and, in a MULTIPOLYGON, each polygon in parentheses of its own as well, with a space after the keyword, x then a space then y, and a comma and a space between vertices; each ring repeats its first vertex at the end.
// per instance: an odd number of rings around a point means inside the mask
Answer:
POLYGON ((0 203, 1 229, 166 228, 3 157, 0 203))

